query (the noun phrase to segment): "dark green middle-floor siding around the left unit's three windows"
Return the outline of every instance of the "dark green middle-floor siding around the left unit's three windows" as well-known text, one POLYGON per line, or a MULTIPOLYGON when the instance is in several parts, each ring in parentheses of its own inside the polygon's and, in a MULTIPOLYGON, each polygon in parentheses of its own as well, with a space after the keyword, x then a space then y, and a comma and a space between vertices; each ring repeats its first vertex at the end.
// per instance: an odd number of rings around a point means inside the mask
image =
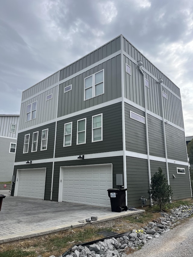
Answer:
POLYGON ((15 161, 17 162, 17 161, 53 158, 54 139, 55 139, 55 122, 19 133, 17 138, 17 149, 16 149, 16 155, 15 155, 15 161), (45 129, 48 129, 47 150, 40 151, 42 130, 45 130, 45 129), (33 132, 37 132, 37 131, 39 131, 37 152, 31 152, 33 132), (30 134, 29 151, 28 153, 23 153, 24 137, 27 134, 30 134))

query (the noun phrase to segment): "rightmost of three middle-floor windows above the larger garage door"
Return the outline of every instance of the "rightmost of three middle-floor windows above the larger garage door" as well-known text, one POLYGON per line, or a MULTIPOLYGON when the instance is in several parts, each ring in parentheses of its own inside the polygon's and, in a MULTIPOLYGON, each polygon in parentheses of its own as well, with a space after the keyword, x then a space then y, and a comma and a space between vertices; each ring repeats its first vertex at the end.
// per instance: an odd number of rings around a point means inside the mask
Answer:
POLYGON ((103 114, 92 117, 92 142, 103 140, 103 114))

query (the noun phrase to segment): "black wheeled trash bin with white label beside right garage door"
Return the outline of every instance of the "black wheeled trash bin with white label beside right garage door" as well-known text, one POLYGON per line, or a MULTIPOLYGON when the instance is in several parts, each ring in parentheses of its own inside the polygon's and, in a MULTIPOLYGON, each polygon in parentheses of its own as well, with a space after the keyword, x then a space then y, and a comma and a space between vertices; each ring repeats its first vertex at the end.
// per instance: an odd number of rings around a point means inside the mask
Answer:
POLYGON ((126 191, 127 188, 123 189, 108 189, 108 196, 111 201, 111 211, 112 212, 122 212, 127 211, 127 205, 126 205, 126 191))

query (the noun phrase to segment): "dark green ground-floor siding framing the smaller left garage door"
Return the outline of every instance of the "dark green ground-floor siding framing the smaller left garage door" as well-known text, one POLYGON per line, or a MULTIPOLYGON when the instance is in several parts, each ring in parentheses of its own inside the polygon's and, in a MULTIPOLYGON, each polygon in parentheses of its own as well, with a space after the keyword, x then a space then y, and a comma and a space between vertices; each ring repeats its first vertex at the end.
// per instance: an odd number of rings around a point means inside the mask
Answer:
MULTIPOLYGON (((51 194, 51 183, 52 183, 52 162, 47 163, 37 163, 37 164, 30 164, 29 165, 17 165, 14 166, 14 172, 13 175, 17 174, 17 170, 22 169, 36 169, 36 168, 46 168, 46 183, 45 183, 45 194, 44 194, 44 200, 50 200, 50 194, 51 194)), ((30 171, 29 171, 30 172, 30 171)), ((11 195, 14 195, 14 190, 11 190, 11 195)))

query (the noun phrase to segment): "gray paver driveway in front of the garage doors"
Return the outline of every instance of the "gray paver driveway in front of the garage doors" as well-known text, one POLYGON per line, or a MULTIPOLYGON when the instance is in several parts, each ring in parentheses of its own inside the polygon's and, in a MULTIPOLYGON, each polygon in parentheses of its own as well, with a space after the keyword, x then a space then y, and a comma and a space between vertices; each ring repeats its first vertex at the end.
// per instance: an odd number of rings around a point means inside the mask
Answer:
POLYGON ((0 194, 6 197, 0 212, 0 243, 81 227, 91 216, 98 217, 94 224, 144 212, 111 212, 110 208, 14 197, 3 191, 0 194))

